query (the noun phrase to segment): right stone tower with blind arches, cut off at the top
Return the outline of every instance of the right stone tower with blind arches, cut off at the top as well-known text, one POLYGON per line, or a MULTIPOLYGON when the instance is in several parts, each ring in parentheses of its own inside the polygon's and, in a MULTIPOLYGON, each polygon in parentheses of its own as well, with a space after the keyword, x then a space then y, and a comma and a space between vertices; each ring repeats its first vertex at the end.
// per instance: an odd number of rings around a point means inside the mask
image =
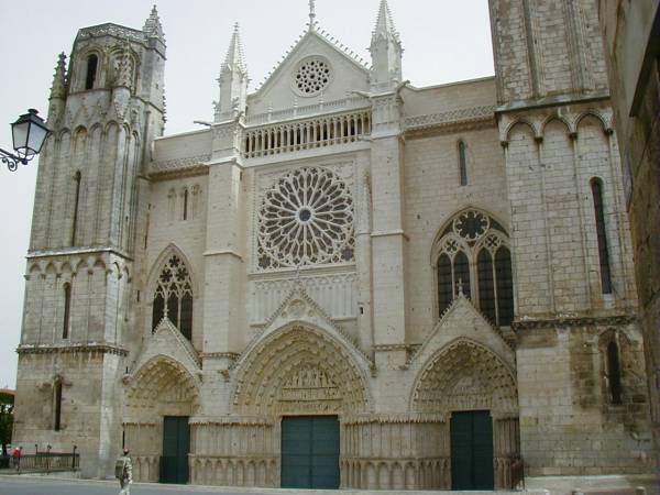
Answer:
POLYGON ((648 404, 596 2, 490 7, 517 273, 521 454, 532 476, 634 471, 650 447, 648 432, 638 435, 648 404), (578 459, 585 452, 592 464, 578 459))

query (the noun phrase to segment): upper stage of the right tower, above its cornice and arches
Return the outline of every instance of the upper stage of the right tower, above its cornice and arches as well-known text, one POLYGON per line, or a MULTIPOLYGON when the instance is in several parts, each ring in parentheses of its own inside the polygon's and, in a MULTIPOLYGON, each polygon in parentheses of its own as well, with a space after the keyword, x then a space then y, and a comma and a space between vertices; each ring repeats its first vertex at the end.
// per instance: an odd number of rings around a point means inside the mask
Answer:
POLYGON ((607 90, 595 0, 491 0, 498 103, 607 90))

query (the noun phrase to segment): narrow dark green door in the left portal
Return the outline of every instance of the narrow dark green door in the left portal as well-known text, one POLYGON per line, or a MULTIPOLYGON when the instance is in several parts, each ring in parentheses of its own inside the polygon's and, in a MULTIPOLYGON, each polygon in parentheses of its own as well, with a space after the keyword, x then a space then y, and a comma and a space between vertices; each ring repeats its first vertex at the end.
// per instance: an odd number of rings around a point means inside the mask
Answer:
POLYGON ((188 483, 188 453, 190 426, 188 418, 166 416, 163 420, 163 455, 161 455, 161 483, 188 483))

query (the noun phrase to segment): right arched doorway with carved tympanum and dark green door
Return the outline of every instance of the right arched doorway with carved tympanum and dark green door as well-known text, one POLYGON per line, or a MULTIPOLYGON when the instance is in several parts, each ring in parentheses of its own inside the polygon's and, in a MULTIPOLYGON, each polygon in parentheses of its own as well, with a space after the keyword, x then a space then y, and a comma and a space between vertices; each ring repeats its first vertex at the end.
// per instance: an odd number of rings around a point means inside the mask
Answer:
POLYGON ((509 488, 519 457, 518 393, 509 366, 493 351, 458 339, 431 356, 413 389, 411 408, 442 414, 438 452, 450 463, 439 488, 509 488))

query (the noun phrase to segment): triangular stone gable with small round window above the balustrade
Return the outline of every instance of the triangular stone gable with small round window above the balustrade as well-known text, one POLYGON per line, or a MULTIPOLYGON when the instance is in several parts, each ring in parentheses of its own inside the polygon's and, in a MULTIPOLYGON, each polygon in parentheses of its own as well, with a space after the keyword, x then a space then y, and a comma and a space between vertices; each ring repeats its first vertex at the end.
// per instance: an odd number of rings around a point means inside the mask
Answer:
POLYGON ((369 69, 318 31, 312 30, 302 36, 262 87, 249 96, 249 114, 341 100, 355 90, 369 90, 369 69), (299 89, 297 76, 316 76, 314 65, 312 72, 309 72, 309 62, 315 61, 326 64, 323 69, 329 68, 328 82, 321 92, 309 96, 299 89))

